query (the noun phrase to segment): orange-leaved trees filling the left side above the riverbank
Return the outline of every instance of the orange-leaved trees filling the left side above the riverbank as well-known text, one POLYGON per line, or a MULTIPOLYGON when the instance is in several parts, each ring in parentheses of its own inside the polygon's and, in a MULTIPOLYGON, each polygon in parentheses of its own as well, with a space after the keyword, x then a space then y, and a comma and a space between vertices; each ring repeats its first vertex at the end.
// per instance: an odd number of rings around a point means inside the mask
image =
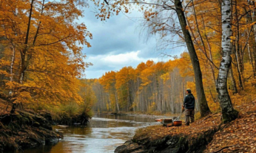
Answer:
POLYGON ((0 2, 1 97, 20 109, 85 105, 79 78, 92 65, 82 53, 92 34, 77 21, 86 6, 76 0, 0 2))

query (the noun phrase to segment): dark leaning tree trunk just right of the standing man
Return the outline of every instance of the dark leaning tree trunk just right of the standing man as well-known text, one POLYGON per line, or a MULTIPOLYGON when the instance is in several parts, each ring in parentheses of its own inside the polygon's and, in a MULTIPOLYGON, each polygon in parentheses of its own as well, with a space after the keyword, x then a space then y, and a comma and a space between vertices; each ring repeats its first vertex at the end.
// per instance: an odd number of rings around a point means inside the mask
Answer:
POLYGON ((199 60, 197 57, 197 53, 195 52, 192 38, 187 28, 184 10, 182 9, 182 3, 180 0, 175 0, 174 3, 176 7, 177 16, 179 17, 179 23, 181 24, 182 33, 184 35, 187 44, 187 49, 189 50, 189 56, 194 69, 195 87, 197 89, 197 99, 200 105, 200 114, 201 117, 204 117, 210 112, 210 109, 208 107, 207 100, 205 97, 205 91, 203 90, 202 72, 200 70, 199 60))

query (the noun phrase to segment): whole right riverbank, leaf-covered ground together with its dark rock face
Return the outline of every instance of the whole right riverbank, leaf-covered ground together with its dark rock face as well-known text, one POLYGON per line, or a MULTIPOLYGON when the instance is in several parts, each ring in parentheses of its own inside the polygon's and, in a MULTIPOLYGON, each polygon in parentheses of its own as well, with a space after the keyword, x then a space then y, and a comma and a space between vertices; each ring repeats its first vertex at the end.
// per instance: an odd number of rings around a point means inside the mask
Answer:
POLYGON ((190 126, 142 128, 114 152, 256 152, 256 101, 236 109, 239 118, 226 124, 215 113, 190 126))

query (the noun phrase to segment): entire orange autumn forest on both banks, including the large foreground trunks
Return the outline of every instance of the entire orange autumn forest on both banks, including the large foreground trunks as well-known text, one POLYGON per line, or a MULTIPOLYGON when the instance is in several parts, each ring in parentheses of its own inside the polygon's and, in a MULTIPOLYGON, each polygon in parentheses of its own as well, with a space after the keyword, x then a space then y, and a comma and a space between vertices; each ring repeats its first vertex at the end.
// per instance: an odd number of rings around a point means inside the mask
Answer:
POLYGON ((255 99, 255 1, 0 0, 0 25, 0 114, 47 110, 66 124, 104 113, 179 114, 189 88, 196 118, 221 112, 218 120, 228 123, 255 99), (93 63, 83 49, 93 33, 81 19, 88 7, 103 23, 142 13, 141 33, 157 39, 168 60, 87 78, 93 63))

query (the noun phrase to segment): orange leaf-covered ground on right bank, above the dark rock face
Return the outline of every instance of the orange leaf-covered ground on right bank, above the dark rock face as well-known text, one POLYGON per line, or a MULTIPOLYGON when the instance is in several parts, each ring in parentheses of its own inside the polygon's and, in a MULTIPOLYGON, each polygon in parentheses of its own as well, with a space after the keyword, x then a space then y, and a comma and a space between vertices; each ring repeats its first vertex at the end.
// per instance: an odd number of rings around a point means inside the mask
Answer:
POLYGON ((204 152, 256 152, 256 101, 236 107, 239 118, 233 122, 221 123, 221 113, 200 118, 190 126, 163 127, 149 126, 137 131, 135 141, 149 138, 157 141, 166 136, 179 136, 186 139, 189 147, 208 144, 204 152))

